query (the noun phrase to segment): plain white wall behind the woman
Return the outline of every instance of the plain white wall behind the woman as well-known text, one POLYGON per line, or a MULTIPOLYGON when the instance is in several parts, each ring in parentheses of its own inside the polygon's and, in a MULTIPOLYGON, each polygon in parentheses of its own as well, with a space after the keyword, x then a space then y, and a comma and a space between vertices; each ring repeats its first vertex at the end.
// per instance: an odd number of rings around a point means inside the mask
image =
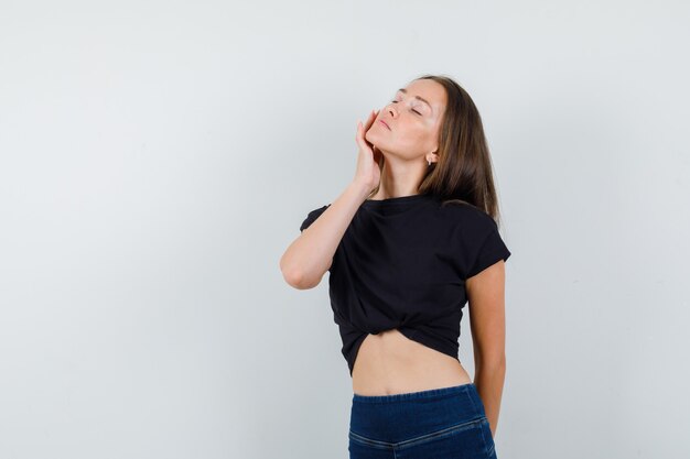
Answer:
MULTIPOLYGON (((688 457, 683 1, 0 0, 0 457, 346 458, 327 297, 278 267, 425 73, 504 217, 500 459, 688 457)), ((461 361, 473 372, 468 324, 461 361)))

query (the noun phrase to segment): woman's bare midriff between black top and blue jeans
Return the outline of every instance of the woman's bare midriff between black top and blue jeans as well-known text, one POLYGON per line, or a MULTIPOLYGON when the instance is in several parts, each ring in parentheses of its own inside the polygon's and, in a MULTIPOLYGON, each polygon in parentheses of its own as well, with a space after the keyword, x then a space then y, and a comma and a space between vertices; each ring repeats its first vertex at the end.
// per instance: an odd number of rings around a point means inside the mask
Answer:
POLYGON ((413 341, 397 329, 367 335, 353 368, 358 395, 392 395, 472 382, 451 356, 413 341))

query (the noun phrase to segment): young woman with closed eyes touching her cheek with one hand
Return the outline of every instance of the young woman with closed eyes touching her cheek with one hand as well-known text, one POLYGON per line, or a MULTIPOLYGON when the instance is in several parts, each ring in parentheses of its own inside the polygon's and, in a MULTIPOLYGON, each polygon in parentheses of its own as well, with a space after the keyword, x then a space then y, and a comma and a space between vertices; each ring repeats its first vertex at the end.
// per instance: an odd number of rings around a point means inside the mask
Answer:
POLYGON ((349 457, 496 458, 510 252, 479 113, 453 79, 425 75, 359 122, 356 142, 354 179, 280 260, 295 288, 330 272, 349 457), (474 382, 457 359, 466 303, 474 382))

